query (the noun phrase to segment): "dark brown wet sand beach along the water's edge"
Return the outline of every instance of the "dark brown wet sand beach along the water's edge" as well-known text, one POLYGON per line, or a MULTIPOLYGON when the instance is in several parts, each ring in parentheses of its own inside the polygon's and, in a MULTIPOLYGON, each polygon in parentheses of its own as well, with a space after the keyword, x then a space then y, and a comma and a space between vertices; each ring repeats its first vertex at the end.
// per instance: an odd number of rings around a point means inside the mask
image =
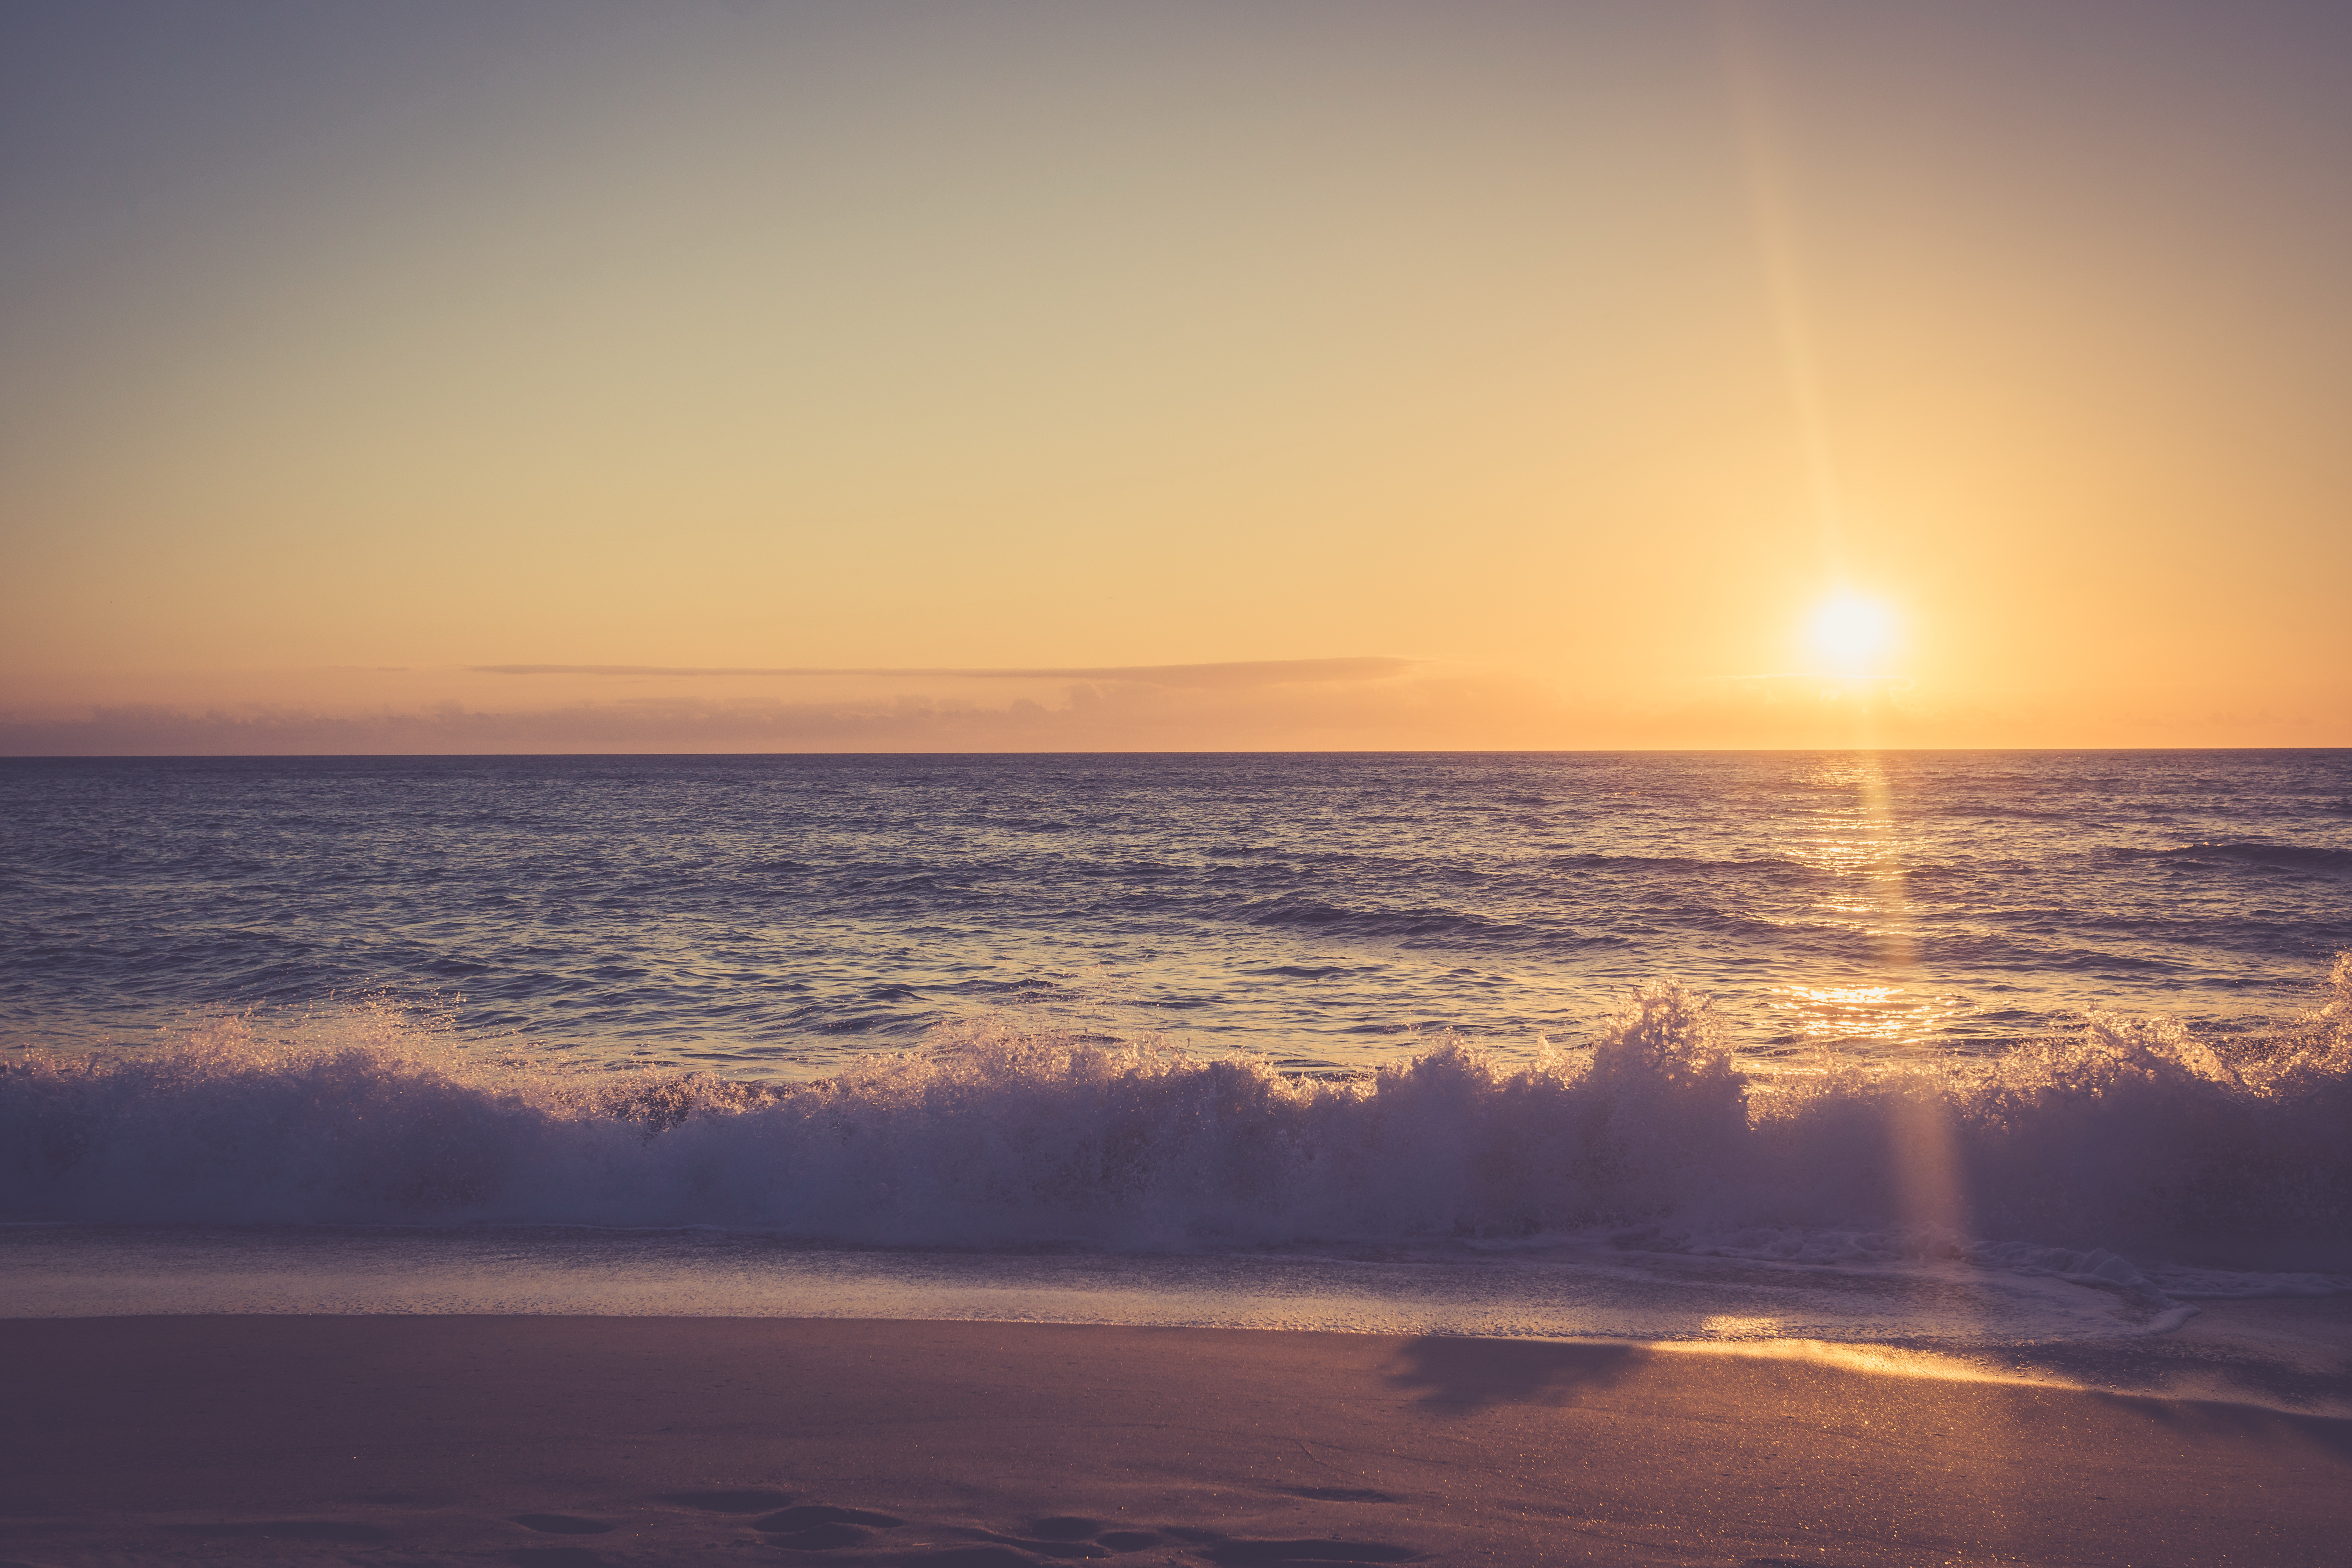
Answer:
POLYGON ((0 1563, 2317 1563, 2352 1420, 1628 1345, 0 1321, 0 1563))

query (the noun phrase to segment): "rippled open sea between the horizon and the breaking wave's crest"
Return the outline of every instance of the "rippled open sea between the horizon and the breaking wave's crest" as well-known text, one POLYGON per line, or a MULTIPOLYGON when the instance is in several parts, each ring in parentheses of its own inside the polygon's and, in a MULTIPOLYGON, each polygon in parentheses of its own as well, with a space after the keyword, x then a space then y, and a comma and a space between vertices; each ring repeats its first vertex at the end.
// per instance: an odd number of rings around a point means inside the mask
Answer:
POLYGON ((35 759, 0 875, 14 1044, 386 992, 743 1077, 985 1009, 1329 1072, 1679 978, 1743 1051, 1980 1053, 2310 1006, 2352 752, 35 759))

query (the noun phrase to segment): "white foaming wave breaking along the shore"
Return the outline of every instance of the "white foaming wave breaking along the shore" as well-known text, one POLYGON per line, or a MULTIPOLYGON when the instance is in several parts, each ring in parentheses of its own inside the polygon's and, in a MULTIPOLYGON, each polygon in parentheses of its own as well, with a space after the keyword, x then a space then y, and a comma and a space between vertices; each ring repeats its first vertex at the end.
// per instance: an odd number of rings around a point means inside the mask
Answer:
POLYGON ((165 1046, 7 1063, 0 1215, 983 1248, 1599 1229, 1788 1260, 1940 1248, 2063 1276, 2098 1276, 2096 1253, 2340 1269, 2345 1126, 2352 954, 2324 1011, 2260 1041, 2091 1018, 1990 1063, 1757 1079, 1708 1001, 1663 983, 1590 1048, 1526 1065, 1442 1041, 1364 1081, 983 1018, 762 1086, 487 1058, 358 1009, 292 1041, 214 1020, 165 1046))

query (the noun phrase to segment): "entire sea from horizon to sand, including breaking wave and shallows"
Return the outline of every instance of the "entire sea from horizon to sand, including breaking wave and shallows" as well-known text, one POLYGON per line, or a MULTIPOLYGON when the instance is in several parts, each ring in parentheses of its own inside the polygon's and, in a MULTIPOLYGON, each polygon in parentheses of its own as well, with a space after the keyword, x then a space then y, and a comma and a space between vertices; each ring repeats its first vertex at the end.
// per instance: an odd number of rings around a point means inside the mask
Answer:
POLYGON ((2352 1295, 2352 752, 0 762, 0 1314, 2352 1295))

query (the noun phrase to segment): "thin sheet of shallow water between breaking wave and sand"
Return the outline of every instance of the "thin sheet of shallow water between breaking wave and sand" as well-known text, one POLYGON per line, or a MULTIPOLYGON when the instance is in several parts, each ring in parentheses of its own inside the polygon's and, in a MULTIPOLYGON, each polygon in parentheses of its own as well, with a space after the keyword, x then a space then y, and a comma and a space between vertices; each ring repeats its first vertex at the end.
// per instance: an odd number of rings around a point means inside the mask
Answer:
POLYGON ((14 1316, 529 1312, 1183 1324, 1945 1349, 2161 1333, 2190 1314, 2046 1269, 1820 1269, 1606 1239, 1218 1255, 797 1246, 729 1232, 0 1227, 14 1316))

